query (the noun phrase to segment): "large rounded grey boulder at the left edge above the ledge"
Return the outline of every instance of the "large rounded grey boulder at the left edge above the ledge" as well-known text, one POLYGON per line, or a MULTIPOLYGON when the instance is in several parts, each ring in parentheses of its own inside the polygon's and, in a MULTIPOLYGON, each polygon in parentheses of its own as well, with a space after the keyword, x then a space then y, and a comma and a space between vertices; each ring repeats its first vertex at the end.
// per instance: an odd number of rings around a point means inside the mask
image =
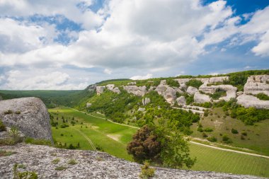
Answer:
POLYGON ((16 127, 27 137, 52 141, 50 115, 39 98, 0 101, 0 118, 7 127, 16 127))

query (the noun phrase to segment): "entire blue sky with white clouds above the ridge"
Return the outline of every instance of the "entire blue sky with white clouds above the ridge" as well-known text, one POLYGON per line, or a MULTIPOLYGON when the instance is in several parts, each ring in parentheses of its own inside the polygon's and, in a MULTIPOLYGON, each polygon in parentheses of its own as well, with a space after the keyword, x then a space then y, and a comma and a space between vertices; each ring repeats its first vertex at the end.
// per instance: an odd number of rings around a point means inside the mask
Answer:
POLYGON ((0 0, 0 89, 269 69, 269 0, 0 0))

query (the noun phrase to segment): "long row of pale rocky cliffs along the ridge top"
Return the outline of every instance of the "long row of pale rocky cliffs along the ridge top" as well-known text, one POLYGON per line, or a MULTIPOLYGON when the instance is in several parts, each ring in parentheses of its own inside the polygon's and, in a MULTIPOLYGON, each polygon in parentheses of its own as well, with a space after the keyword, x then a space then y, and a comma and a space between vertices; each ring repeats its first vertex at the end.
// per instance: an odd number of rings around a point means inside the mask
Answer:
MULTIPOLYGON (((244 107, 254 107, 254 108, 266 108, 269 109, 269 100, 259 100, 255 97, 258 93, 264 93, 269 96, 269 75, 256 75, 248 77, 248 81, 244 86, 244 96, 243 93, 237 92, 237 88, 231 85, 224 85, 224 81, 229 80, 229 76, 217 76, 212 78, 195 78, 198 81, 202 81, 202 86, 200 88, 195 88, 193 86, 187 86, 186 83, 191 79, 174 79, 180 85, 180 87, 171 87, 166 84, 166 80, 161 80, 159 86, 151 86, 147 90, 146 86, 136 86, 135 82, 129 83, 128 86, 123 86, 123 89, 127 93, 132 93, 135 96, 144 96, 149 93, 149 91, 156 91, 160 96, 163 96, 167 103, 174 105, 185 105, 185 98, 177 98, 176 93, 188 93, 188 95, 194 95, 195 103, 205 103, 205 102, 217 102, 219 100, 229 101, 231 98, 237 98, 240 105, 244 107), (220 84, 218 84, 220 83, 220 84), (209 94, 215 93, 217 90, 226 91, 226 96, 219 98, 218 100, 212 100, 209 94)), ((120 93, 118 87, 114 84, 109 84, 107 86, 97 86, 96 91, 98 94, 103 93, 103 90, 108 88, 108 90, 114 93, 120 93)))

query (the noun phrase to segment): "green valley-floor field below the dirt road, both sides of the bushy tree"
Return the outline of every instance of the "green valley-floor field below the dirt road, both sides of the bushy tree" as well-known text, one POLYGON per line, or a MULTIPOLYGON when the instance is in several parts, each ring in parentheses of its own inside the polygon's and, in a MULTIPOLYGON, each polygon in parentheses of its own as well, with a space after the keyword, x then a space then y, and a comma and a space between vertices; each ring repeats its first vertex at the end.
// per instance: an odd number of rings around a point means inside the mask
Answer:
MULTIPOLYGON (((132 134, 137 129, 114 124, 97 117, 91 117, 70 108, 54 108, 49 111, 53 112, 55 119, 56 116, 59 117, 59 125, 62 124, 62 116, 69 123, 67 128, 60 128, 58 126, 58 129, 55 129, 55 127, 52 127, 52 135, 57 142, 72 143, 74 145, 79 142, 81 149, 92 150, 91 145, 77 131, 79 129, 91 139, 95 146, 101 146, 108 154, 132 161, 132 157, 127 154, 126 145, 130 142, 132 134), (74 126, 70 124, 72 117, 74 117, 75 121, 78 120, 74 126), (83 122, 82 125, 81 122, 83 122), (61 134, 64 134, 64 136, 61 136, 61 134)), ((103 117, 100 114, 94 115, 103 117)), ((192 157, 197 157, 197 162, 192 168, 193 170, 269 177, 269 158, 237 154, 231 151, 220 151, 198 144, 190 144, 190 154, 192 157)))

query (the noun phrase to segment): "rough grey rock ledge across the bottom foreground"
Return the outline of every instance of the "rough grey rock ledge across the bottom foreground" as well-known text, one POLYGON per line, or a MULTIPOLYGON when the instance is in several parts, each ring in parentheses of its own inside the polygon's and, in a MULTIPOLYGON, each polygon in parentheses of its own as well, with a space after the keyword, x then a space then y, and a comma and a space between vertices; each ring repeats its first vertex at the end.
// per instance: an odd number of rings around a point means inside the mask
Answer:
MULTIPOLYGON (((139 178, 140 166, 103 152, 57 149, 51 146, 18 144, 1 146, 0 150, 13 151, 10 156, 0 156, 1 178, 12 178, 14 163, 23 164, 19 171, 35 171, 38 178, 139 178), (58 163, 52 163, 59 158, 58 163), (68 164, 76 160, 75 165, 68 164), (62 166, 62 171, 55 168, 62 166)), ((231 175, 206 171, 184 171, 156 168, 154 178, 258 178, 250 175, 231 175)))

